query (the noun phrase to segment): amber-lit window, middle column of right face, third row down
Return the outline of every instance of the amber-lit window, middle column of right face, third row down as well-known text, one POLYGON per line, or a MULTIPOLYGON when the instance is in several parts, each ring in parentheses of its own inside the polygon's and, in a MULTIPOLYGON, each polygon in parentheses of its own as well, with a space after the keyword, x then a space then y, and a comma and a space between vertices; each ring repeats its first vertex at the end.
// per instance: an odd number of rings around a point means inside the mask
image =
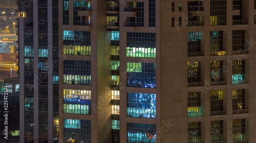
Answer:
POLYGON ((223 80, 223 61, 210 61, 210 81, 223 80))

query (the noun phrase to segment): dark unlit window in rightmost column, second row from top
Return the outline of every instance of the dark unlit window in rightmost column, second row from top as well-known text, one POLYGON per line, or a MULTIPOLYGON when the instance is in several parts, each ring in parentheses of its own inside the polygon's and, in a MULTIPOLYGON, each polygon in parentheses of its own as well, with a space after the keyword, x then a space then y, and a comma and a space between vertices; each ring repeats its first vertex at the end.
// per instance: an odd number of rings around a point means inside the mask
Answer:
POLYGON ((245 30, 232 31, 232 49, 245 50, 245 30))

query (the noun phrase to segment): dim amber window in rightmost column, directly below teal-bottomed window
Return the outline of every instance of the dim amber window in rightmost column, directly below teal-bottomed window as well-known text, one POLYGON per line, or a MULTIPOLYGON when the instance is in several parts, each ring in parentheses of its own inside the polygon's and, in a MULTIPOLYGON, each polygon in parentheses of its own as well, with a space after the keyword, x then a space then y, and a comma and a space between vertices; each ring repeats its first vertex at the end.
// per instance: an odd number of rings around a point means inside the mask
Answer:
POLYGON ((233 110, 245 109, 245 90, 232 90, 233 110))

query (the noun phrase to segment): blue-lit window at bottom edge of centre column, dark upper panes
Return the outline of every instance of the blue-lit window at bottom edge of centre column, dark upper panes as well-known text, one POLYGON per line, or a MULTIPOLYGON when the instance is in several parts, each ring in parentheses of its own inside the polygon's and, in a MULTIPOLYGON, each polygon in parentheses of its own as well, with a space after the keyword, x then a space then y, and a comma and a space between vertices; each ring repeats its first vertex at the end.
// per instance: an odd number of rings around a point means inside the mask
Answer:
POLYGON ((156 142, 156 125, 127 123, 127 129, 128 143, 156 142))

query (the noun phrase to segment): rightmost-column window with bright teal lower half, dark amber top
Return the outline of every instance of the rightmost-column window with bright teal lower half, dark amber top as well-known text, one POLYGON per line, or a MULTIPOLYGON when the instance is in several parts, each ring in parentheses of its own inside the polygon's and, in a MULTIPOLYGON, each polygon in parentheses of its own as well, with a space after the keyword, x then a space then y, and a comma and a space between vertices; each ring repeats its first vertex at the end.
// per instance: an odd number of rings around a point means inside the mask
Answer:
POLYGON ((232 61, 232 84, 248 83, 245 77, 245 60, 232 61))

